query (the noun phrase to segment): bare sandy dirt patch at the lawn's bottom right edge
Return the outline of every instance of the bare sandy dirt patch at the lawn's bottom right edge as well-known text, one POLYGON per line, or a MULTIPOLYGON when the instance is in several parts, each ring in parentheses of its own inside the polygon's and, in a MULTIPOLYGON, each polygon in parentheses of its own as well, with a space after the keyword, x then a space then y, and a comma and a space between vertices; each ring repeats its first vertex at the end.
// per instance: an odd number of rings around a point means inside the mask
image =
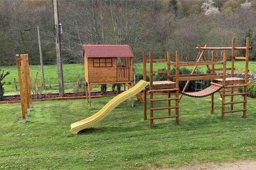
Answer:
MULTIPOLYGON (((174 170, 176 168, 157 168, 157 170, 174 170)), ((225 163, 202 163, 202 164, 189 164, 180 168, 178 170, 254 170, 256 169, 256 161, 234 161, 234 162, 225 162, 225 163)))

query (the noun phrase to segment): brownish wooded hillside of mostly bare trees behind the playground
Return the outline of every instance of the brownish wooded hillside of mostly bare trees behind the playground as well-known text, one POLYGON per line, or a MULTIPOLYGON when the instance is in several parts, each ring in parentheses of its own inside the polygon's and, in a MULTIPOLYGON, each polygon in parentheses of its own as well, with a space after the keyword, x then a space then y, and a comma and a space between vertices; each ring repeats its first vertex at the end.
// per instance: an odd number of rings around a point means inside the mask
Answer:
MULTIPOLYGON (((164 57, 180 52, 182 61, 197 58, 196 45, 250 45, 256 41, 255 1, 59 1, 63 63, 82 63, 82 44, 129 44, 135 62, 144 50, 164 57)), ((44 64, 56 64, 52 1, 0 1, 0 66, 14 65, 16 54, 39 64, 37 26, 44 64)), ((243 54, 241 54, 243 55, 243 54)), ((250 59, 256 59, 254 48, 250 59)))

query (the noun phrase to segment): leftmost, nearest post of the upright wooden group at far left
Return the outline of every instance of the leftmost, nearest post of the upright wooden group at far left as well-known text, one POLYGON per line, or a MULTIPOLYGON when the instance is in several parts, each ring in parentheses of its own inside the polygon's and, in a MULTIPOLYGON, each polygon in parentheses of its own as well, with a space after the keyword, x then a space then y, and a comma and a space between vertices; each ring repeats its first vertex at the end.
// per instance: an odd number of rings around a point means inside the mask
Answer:
POLYGON ((22 105, 22 119, 23 123, 26 124, 26 108, 24 108, 24 98, 23 98, 23 85, 22 85, 22 72, 20 70, 20 56, 16 55, 16 64, 18 71, 18 83, 19 83, 19 93, 20 93, 20 104, 22 105))

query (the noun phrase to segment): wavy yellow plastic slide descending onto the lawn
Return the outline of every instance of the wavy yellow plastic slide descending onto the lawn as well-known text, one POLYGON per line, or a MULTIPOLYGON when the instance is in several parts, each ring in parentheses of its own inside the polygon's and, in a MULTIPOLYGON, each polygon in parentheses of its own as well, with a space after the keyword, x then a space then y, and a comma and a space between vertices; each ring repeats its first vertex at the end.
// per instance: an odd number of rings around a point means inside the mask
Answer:
POLYGON ((136 94, 138 94, 141 90, 143 90, 146 86, 148 86, 148 82, 141 80, 137 83, 133 88, 122 92, 121 94, 115 96, 109 103, 107 103, 100 111, 96 114, 88 117, 86 119, 80 120, 74 124, 71 124, 71 132, 73 134, 77 134, 80 130, 89 128, 94 124, 100 122, 106 115, 108 115, 112 110, 115 109, 118 105, 124 102, 126 99, 132 98, 136 94))

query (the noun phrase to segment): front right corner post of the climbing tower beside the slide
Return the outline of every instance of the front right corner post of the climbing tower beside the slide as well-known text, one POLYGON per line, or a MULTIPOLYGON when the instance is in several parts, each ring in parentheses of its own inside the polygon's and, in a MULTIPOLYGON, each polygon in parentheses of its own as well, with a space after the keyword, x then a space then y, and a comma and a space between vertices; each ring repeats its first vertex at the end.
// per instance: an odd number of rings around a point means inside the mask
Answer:
MULTIPOLYGON (((179 52, 176 51, 176 66, 175 66, 175 88, 179 89, 179 52)), ((179 90, 176 90, 175 97, 179 98, 179 90)), ((176 100, 175 114, 179 115, 179 100, 176 100)), ((176 124, 179 124, 179 117, 176 117, 176 124)))

